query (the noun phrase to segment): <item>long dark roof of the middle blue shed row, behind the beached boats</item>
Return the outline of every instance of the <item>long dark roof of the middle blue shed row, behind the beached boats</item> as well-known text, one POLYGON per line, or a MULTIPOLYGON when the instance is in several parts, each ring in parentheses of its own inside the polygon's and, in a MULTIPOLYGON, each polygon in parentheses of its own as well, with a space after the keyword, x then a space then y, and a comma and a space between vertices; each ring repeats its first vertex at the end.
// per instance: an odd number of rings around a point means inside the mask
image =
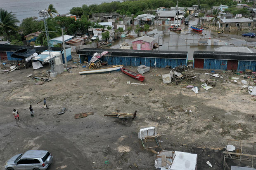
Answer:
MULTIPOLYGON (((95 52, 102 53, 106 49, 85 48, 77 54, 93 56, 95 52)), ((123 57, 147 57, 147 58, 179 58, 186 59, 187 51, 150 51, 150 50, 132 50, 132 49, 108 49, 106 56, 123 56, 123 57)))

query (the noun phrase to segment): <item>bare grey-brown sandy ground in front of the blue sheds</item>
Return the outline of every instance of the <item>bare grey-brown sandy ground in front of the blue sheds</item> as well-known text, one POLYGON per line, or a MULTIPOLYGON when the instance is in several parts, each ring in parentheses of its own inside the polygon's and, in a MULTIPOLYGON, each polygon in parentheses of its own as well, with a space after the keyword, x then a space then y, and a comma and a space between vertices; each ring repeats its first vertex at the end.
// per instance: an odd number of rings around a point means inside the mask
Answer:
POLYGON ((72 69, 73 73, 63 72, 43 85, 35 85, 35 80, 26 77, 42 75, 46 70, 30 68, 0 76, 1 167, 14 154, 44 149, 54 157, 49 170, 153 170, 156 155, 143 150, 137 133, 140 128, 155 126, 159 133, 166 134, 159 138, 160 148, 156 151, 196 153, 198 170, 220 170, 226 139, 256 140, 256 123, 247 115, 255 114, 256 101, 241 88, 242 77, 238 84, 228 83, 232 82, 232 73, 220 72, 224 77, 221 79, 196 70, 197 78, 192 82, 166 85, 161 74, 168 73, 167 69, 152 68, 145 74, 145 82, 140 83, 122 72, 79 75, 78 71, 83 70, 79 65, 72 69), (216 86, 198 94, 185 88, 201 86, 200 79, 215 79, 216 86), (48 97, 49 109, 43 108, 43 102, 37 104, 44 97, 48 97), (30 104, 35 111, 33 118, 30 104), (67 111, 57 115, 63 107, 67 111), (15 121, 14 108, 21 121, 15 121), (122 121, 104 116, 116 110, 137 110, 137 117, 122 121), (74 119, 74 114, 82 112, 94 114, 74 119))

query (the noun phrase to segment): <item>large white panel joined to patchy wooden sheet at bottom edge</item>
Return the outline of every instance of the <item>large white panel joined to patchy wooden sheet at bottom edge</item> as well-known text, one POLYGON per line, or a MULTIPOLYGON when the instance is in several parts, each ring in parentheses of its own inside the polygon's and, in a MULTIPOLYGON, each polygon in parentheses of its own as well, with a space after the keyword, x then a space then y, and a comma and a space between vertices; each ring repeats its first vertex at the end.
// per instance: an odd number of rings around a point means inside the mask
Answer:
POLYGON ((195 170, 197 154, 163 150, 156 155, 155 167, 161 170, 195 170))

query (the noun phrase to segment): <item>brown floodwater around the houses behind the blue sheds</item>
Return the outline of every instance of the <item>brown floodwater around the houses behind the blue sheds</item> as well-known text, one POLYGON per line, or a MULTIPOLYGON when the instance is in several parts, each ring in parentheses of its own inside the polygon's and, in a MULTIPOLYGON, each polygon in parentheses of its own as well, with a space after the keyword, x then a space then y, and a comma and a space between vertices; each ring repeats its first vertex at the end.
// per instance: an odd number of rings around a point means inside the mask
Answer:
MULTIPOLYGON (((189 26, 184 26, 183 24, 180 26, 180 28, 183 30, 180 33, 169 31, 168 28, 170 26, 154 26, 154 30, 149 31, 147 34, 155 34, 154 38, 156 39, 156 42, 161 44, 159 48, 154 50, 188 51, 188 60, 193 60, 194 51, 214 51, 214 49, 224 45, 231 47, 255 47, 255 42, 250 42, 250 38, 248 38, 246 41, 238 38, 223 37, 223 35, 209 29, 204 29, 202 34, 198 34, 190 28, 190 26, 196 25, 197 22, 198 19, 196 18, 190 21, 189 26), (162 38, 164 30, 168 30, 170 35, 164 35, 164 38, 162 38), (211 41, 211 45, 207 45, 209 40, 211 41), (200 41, 206 42, 206 44, 199 45, 200 41)), ((241 35, 241 33, 235 34, 241 35)), ((112 43, 113 45, 110 48, 119 49, 122 42, 128 42, 128 44, 131 46, 132 40, 133 39, 125 38, 116 40, 114 43, 112 43)), ((255 48, 252 48, 251 50, 256 52, 255 48)))

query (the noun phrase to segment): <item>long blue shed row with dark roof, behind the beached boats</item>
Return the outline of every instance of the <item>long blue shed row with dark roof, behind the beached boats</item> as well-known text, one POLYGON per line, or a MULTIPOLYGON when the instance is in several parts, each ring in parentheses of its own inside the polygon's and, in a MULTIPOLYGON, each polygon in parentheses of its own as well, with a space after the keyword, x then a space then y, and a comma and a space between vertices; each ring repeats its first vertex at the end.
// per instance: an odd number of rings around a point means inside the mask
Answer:
MULTIPOLYGON (((93 54, 102 53, 106 49, 81 49, 79 54, 80 62, 90 61, 93 54)), ((107 49, 108 53, 102 57, 102 60, 109 65, 139 66, 172 68, 178 65, 187 65, 187 51, 148 51, 148 50, 130 50, 130 49, 107 49)))

